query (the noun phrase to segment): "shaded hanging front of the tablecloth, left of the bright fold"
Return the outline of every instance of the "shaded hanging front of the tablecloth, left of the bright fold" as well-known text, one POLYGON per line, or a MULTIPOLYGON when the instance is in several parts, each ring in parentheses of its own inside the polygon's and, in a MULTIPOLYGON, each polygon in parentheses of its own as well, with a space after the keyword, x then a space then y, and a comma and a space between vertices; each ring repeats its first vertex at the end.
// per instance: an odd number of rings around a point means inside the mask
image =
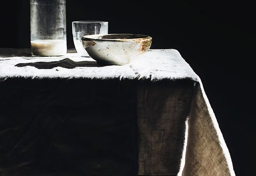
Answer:
POLYGON ((2 81, 0 173, 177 175, 193 85, 191 80, 2 81))

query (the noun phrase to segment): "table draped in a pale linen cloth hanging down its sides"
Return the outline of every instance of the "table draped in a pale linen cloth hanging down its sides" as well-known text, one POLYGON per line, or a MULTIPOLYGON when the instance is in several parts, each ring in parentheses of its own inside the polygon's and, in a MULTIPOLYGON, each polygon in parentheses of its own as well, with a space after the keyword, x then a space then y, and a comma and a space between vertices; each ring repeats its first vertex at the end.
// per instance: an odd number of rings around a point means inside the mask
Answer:
POLYGON ((101 66, 0 49, 0 175, 235 176, 200 78, 175 49, 101 66))

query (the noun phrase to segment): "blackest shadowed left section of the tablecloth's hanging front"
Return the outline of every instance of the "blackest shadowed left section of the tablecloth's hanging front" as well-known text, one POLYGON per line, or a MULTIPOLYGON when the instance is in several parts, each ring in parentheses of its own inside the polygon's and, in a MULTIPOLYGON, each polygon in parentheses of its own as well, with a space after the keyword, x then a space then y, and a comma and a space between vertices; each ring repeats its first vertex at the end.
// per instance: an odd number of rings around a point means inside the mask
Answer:
POLYGON ((119 80, 0 82, 0 175, 137 174, 135 95, 119 80))

